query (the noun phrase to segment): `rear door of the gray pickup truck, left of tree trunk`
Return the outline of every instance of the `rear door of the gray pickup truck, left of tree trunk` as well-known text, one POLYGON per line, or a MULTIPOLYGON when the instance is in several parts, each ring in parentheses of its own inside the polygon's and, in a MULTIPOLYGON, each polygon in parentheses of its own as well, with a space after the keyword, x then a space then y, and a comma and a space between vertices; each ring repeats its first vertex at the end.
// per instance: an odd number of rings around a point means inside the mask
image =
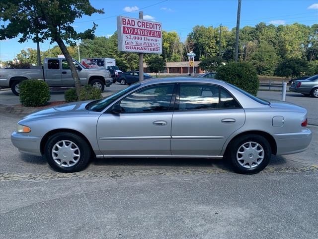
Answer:
POLYGON ((61 60, 60 59, 48 59, 45 68, 45 81, 49 86, 61 86, 61 60))

